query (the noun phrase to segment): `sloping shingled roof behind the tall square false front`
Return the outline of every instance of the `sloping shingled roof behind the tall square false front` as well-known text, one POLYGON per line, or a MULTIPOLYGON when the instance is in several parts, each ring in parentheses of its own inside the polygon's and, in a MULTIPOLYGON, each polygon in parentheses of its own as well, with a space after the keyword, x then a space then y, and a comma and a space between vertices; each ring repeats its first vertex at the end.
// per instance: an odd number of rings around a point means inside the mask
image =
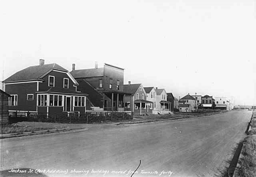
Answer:
POLYGON ((74 78, 99 77, 99 76, 103 76, 104 68, 74 70, 74 71, 71 71, 70 73, 74 78))

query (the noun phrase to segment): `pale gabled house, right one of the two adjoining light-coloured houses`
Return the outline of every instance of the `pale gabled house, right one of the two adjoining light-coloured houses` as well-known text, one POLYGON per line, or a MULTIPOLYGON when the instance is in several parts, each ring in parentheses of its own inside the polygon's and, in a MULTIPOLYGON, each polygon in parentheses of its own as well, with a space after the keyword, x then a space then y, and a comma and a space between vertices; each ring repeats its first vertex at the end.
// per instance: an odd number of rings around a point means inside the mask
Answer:
POLYGON ((171 102, 167 101, 167 93, 165 89, 155 88, 156 91, 156 112, 160 114, 168 114, 171 113, 171 102))

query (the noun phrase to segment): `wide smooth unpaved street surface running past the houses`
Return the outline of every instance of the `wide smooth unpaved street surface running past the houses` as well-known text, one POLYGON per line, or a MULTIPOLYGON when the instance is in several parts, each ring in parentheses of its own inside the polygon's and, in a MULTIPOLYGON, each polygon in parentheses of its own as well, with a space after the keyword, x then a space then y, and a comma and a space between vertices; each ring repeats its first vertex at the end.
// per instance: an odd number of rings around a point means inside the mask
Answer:
POLYGON ((216 176, 229 165, 251 115, 252 111, 231 111, 2 139, 1 170, 27 168, 27 175, 32 169, 46 176, 131 176, 139 166, 133 177, 216 176))

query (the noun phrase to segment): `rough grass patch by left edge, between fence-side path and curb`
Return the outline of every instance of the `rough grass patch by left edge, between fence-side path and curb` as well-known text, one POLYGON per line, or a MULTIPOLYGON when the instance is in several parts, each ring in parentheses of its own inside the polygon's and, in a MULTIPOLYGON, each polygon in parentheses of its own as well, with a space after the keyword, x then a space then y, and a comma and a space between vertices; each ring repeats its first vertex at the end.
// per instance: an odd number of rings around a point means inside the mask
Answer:
POLYGON ((18 124, 11 125, 1 125, 1 134, 8 133, 24 133, 24 132, 34 132, 39 130, 45 130, 43 127, 30 127, 30 126, 20 126, 18 124))

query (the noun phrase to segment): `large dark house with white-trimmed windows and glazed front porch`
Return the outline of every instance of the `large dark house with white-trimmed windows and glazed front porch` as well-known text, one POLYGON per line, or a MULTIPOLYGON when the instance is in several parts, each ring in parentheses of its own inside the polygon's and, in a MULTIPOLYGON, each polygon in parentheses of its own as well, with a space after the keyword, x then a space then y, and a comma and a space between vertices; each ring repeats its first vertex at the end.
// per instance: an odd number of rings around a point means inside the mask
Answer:
POLYGON ((77 91, 79 84, 62 66, 52 63, 30 66, 3 81, 9 97, 9 112, 43 113, 49 117, 62 112, 86 110, 88 94, 77 91))

